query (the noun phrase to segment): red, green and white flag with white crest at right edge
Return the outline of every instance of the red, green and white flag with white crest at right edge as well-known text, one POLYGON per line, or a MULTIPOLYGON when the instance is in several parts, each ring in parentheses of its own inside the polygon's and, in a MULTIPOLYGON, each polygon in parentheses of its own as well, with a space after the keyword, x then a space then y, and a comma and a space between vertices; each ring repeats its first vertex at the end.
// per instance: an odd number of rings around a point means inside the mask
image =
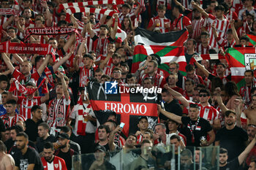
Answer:
POLYGON ((244 85, 244 71, 256 69, 255 47, 232 47, 226 53, 227 63, 231 69, 232 80, 237 83, 238 89, 244 85))

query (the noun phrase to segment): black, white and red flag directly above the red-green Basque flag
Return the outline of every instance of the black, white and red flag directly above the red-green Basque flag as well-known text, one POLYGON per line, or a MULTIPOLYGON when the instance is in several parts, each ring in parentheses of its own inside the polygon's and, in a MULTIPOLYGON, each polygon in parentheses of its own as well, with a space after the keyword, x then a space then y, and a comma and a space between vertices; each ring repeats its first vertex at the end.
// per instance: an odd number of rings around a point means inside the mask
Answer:
POLYGON ((187 41, 188 34, 187 29, 157 33, 137 27, 135 29, 135 45, 183 46, 184 42, 187 41))

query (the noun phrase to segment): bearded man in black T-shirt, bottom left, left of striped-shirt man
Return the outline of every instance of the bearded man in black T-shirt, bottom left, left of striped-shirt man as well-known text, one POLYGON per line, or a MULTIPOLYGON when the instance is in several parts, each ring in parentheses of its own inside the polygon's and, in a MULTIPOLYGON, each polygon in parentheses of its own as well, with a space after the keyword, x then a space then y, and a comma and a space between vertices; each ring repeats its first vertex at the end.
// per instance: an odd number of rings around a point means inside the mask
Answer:
POLYGON ((15 170, 44 170, 37 151, 28 147, 29 136, 27 134, 24 132, 17 134, 16 144, 19 151, 14 155, 15 170))

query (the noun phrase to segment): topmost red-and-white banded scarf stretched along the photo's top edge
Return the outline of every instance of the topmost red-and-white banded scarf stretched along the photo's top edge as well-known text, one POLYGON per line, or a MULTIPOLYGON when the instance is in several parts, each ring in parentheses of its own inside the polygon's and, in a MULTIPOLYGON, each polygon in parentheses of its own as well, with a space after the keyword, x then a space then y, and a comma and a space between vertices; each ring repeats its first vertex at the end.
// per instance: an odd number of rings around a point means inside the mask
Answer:
POLYGON ((98 4, 124 4, 123 0, 99 0, 99 1, 84 1, 84 2, 75 2, 67 4, 59 4, 60 13, 63 9, 68 9, 69 7, 86 7, 89 5, 98 5, 98 4))

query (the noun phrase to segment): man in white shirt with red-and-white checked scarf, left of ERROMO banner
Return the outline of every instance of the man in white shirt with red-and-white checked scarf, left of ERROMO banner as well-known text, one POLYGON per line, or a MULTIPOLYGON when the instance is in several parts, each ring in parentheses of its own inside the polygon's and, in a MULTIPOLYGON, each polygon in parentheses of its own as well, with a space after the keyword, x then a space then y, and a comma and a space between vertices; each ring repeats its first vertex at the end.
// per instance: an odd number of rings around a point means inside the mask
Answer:
POLYGON ((75 120, 74 141, 78 142, 82 153, 94 151, 94 135, 97 129, 95 117, 89 98, 85 95, 85 88, 80 88, 80 100, 72 110, 68 124, 75 120))

